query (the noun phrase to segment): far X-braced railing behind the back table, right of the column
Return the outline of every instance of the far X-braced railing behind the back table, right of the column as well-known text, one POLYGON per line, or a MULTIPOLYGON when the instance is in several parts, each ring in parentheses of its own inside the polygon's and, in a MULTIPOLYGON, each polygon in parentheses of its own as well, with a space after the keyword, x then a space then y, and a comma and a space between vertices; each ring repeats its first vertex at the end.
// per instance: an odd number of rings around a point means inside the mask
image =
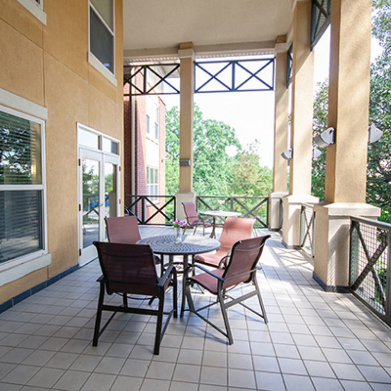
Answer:
POLYGON ((255 228, 267 228, 267 197, 230 197, 228 195, 199 195, 197 210, 229 210, 240 212, 242 217, 255 218, 255 228))

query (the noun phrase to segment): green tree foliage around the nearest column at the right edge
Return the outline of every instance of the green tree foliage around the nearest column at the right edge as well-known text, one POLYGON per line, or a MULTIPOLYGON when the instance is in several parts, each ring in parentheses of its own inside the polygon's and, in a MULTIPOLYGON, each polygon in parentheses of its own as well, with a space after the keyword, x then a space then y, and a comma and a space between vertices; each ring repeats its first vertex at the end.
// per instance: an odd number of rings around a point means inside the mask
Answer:
MULTIPOLYGON (((380 219, 391 222, 391 0, 373 1, 372 35, 382 54, 371 66, 370 122, 383 136, 368 146, 367 202, 382 209, 380 219)), ((327 83, 319 85, 314 102, 314 135, 327 127, 327 83)), ((312 192, 323 200, 326 151, 313 161, 312 192)))

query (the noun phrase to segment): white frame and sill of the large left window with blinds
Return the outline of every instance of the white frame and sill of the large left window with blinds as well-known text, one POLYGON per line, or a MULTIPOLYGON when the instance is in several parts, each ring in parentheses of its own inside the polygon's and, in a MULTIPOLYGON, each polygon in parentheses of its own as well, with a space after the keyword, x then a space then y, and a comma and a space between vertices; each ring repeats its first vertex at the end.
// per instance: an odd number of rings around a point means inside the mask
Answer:
POLYGON ((23 113, 17 109, 5 106, 0 102, 0 110, 4 113, 33 121, 41 126, 41 184, 23 184, 23 185, 4 185, 0 184, 0 191, 9 190, 41 190, 42 191, 42 242, 43 248, 14 259, 0 263, 0 274, 2 275, 0 286, 18 280, 18 278, 48 266, 51 263, 51 256, 48 254, 47 247, 47 204, 46 204, 46 149, 45 149, 45 120, 31 114, 23 113))

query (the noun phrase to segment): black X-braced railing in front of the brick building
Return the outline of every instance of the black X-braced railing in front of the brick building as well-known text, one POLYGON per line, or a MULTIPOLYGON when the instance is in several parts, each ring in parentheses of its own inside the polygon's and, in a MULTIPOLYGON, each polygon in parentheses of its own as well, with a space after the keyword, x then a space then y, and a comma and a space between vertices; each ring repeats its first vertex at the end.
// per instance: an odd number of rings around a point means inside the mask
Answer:
POLYGON ((175 220, 174 195, 125 194, 125 212, 136 216, 138 224, 166 226, 175 220))

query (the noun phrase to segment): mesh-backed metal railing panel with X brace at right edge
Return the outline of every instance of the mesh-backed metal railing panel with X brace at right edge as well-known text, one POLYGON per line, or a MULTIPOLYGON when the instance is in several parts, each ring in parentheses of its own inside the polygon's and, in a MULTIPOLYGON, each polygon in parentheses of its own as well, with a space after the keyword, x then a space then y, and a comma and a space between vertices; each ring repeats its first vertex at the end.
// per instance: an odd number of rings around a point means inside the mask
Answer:
POLYGON ((391 325, 391 224, 350 220, 349 291, 391 325))

